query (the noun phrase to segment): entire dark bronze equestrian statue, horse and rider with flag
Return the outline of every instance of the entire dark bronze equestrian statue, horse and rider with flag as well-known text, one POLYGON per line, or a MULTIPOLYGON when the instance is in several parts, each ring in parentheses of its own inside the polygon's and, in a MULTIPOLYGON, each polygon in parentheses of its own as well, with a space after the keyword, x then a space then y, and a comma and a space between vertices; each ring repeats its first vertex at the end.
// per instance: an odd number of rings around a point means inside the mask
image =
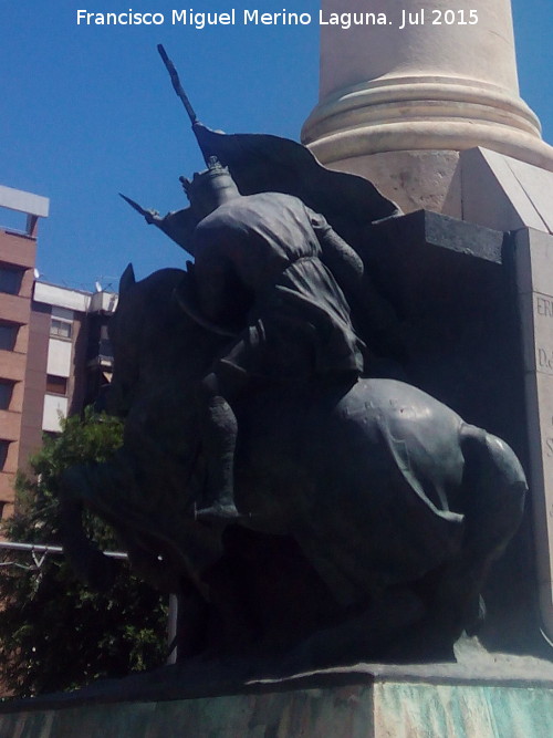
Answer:
POLYGON ((420 294, 410 322, 413 280, 375 263, 375 222, 399 211, 294 142, 191 121, 208 170, 181 178, 190 208, 125 199, 195 263, 122 278, 107 405, 124 446, 66 475, 66 552, 105 584, 83 506, 112 522, 178 595, 180 657, 452 658, 526 482, 505 443, 407 383, 428 386, 415 344, 446 315, 420 294))

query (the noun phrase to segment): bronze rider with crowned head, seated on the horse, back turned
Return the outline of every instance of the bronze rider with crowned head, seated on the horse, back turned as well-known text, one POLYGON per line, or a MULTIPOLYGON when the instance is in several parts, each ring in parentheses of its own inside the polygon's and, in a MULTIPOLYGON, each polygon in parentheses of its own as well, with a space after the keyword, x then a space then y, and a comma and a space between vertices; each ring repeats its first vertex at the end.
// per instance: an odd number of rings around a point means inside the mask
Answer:
MULTIPOLYGON (((240 516, 233 495, 237 420, 229 401, 254 378, 356 382, 364 344, 344 292, 358 289, 363 263, 296 197, 242 196, 215 157, 208 167, 191 181, 182 179, 199 221, 190 271, 197 311, 234 337, 201 382, 207 487, 197 518, 230 522, 240 516)), ((187 310, 187 297, 177 297, 187 310)))

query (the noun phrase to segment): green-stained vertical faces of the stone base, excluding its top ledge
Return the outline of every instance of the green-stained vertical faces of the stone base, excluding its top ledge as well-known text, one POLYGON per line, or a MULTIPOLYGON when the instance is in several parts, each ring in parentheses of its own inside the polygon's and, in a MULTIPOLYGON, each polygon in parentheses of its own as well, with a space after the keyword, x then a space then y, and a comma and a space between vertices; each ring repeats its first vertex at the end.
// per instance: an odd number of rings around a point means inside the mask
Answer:
POLYGON ((119 703, 0 717, 13 738, 550 738, 553 689, 540 685, 373 684, 119 703))

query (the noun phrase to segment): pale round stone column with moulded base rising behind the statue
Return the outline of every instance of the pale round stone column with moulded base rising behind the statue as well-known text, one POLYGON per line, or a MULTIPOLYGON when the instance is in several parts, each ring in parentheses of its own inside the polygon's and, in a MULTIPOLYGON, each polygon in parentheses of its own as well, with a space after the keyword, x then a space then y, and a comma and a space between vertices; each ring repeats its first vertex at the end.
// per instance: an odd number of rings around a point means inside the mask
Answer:
POLYGON ((519 96, 510 0, 322 0, 321 22, 320 103, 302 139, 323 164, 406 210, 442 211, 462 149, 553 170, 519 96))

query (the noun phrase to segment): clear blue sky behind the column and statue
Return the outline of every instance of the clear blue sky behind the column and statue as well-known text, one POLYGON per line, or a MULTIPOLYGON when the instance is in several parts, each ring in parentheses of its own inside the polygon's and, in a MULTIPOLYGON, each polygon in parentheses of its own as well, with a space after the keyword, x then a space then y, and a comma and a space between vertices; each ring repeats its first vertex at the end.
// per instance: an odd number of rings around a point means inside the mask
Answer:
MULTIPOLYGON (((139 277, 184 263, 184 252, 117 197, 123 191, 163 212, 176 209, 185 202, 178 176, 201 167, 157 43, 212 127, 298 138, 316 103, 315 23, 204 30, 76 24, 77 9, 170 17, 175 7, 222 12, 255 3, 0 0, 0 184, 51 200, 38 256, 48 281, 116 287, 128 261, 139 277)), ((258 7, 315 14, 319 2, 258 7)), ((521 94, 553 143, 552 0, 513 0, 513 13, 521 94)))

